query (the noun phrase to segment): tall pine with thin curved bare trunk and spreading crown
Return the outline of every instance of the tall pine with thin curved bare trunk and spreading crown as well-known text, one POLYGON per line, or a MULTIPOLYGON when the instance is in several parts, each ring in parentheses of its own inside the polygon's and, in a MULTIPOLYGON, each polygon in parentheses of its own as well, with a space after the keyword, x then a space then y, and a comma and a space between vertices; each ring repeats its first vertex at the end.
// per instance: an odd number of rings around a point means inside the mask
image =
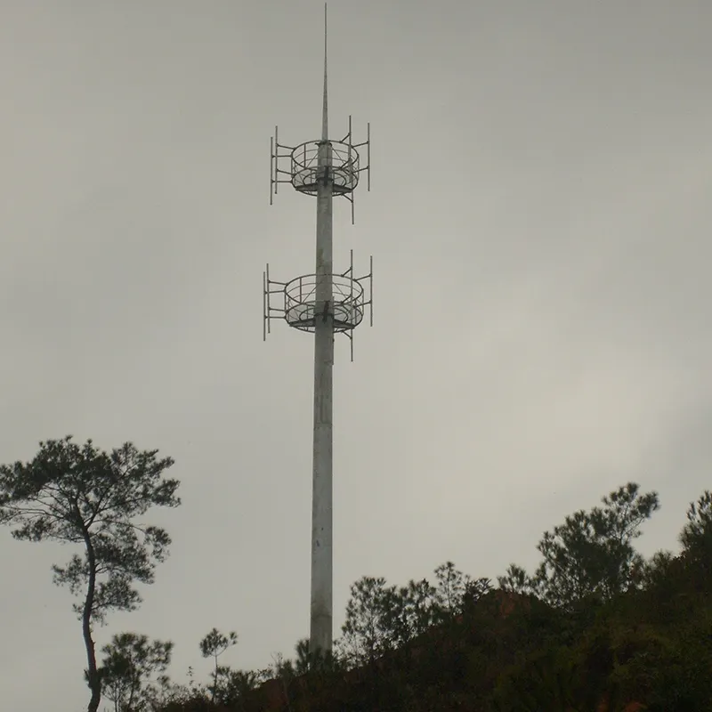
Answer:
POLYGON ((171 543, 166 530, 138 521, 152 506, 180 504, 179 482, 163 479, 174 461, 157 454, 128 442, 108 454, 68 436, 40 442, 27 463, 0 465, 0 523, 16 527, 14 538, 82 546, 53 571, 56 584, 80 597, 74 608, 85 641, 89 712, 101 700, 93 623, 111 610, 134 611, 142 600, 134 583, 153 582, 171 543))

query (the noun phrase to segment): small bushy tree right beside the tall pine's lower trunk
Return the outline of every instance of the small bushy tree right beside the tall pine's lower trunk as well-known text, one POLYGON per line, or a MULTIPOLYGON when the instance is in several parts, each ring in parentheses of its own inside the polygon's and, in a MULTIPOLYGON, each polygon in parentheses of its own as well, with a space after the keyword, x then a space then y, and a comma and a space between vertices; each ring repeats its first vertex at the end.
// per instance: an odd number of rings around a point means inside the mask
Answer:
POLYGON ((101 651, 99 669, 104 696, 114 703, 115 712, 143 712, 165 689, 162 674, 171 662, 174 643, 149 642, 147 635, 121 633, 101 651))

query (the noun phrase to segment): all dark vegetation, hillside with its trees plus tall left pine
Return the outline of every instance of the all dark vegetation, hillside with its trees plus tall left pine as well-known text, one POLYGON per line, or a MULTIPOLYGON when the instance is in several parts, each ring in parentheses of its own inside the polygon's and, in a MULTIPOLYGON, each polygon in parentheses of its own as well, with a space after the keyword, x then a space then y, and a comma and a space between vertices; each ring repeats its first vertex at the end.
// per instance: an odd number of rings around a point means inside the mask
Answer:
POLYGON ((196 641, 209 679, 177 684, 173 642, 126 632, 97 654, 93 624, 134 610, 135 584, 167 554, 167 532, 143 517, 180 505, 171 465, 68 437, 0 466, 13 537, 81 549, 53 569, 78 600, 89 712, 712 712, 712 493, 689 506, 679 553, 646 560, 635 539, 659 497, 634 482, 544 532, 532 572, 511 564, 495 582, 446 562, 402 586, 360 578, 328 656, 303 640, 292 658, 236 670, 223 655, 238 633, 213 629, 196 641))

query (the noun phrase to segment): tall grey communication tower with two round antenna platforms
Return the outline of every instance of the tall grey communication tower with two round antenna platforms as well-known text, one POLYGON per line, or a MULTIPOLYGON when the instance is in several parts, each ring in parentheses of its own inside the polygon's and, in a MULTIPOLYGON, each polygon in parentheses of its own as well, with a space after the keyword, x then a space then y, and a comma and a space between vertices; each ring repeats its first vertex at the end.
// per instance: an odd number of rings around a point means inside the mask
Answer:
POLYGON ((310 651, 331 650, 333 618, 333 379, 334 337, 348 336, 353 360, 353 330, 368 318, 373 326, 373 257, 368 274, 356 277, 353 250, 349 268, 333 266, 333 198, 351 203, 361 174, 370 190, 370 125, 366 141, 354 143, 352 119, 340 141, 328 137, 327 7, 324 5, 324 93, 319 141, 287 146, 279 143, 278 128, 270 140, 270 204, 279 183, 291 183, 299 193, 317 198, 316 269, 287 282, 263 273, 263 339, 272 320, 314 335, 314 438, 312 473, 312 596, 310 651), (365 157, 361 154, 365 153, 365 157), (365 158, 365 160, 364 160, 365 158))

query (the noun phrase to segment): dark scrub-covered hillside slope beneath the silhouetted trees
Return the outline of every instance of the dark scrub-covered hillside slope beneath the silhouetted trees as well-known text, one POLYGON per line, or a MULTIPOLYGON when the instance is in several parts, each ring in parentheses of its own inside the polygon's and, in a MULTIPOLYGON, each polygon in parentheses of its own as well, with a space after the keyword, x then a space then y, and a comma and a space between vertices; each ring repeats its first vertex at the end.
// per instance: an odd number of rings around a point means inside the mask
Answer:
POLYGON ((707 712, 709 563, 669 559, 645 587, 570 611, 493 590, 366 665, 285 674, 228 705, 161 712, 707 712))

